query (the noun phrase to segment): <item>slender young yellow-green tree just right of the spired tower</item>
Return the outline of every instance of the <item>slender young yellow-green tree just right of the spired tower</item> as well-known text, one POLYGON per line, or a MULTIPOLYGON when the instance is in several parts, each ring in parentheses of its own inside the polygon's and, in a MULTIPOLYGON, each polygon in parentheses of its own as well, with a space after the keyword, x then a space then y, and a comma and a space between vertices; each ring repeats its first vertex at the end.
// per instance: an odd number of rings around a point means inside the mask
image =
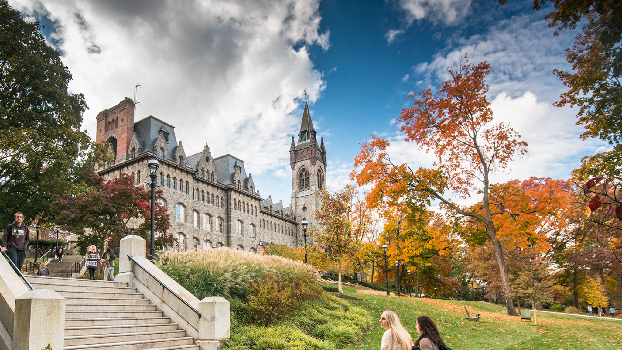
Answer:
POLYGON ((352 255, 357 248, 356 236, 352 232, 352 196, 350 186, 335 193, 323 190, 320 194, 322 207, 315 210, 315 219, 322 229, 312 235, 313 241, 328 260, 338 263, 339 293, 343 293, 341 260, 344 255, 352 255))

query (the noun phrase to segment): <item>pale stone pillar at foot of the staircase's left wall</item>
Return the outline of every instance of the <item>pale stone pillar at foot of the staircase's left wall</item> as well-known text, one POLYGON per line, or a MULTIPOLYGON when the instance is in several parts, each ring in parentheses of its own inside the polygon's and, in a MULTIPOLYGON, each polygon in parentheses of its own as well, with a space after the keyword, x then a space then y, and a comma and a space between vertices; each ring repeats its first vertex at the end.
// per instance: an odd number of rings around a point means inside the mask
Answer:
POLYGON ((63 349, 65 298, 53 290, 30 290, 15 300, 13 350, 63 349))

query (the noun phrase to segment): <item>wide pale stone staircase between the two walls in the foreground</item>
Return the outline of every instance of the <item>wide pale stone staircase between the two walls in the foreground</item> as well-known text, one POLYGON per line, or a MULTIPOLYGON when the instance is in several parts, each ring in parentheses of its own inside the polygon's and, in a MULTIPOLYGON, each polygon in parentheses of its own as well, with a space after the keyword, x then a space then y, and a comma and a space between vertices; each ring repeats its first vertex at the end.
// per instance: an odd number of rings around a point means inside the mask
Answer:
POLYGON ((177 323, 170 323, 128 283, 26 278, 35 290, 54 290, 66 299, 65 350, 199 349, 177 323))

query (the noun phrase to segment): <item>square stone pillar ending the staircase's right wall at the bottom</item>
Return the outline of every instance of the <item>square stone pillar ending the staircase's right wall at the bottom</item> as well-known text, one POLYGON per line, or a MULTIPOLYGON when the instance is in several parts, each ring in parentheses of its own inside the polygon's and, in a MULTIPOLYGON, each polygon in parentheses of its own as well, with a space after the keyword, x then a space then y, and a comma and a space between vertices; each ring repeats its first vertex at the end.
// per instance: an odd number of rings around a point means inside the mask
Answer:
POLYGON ((199 301, 198 341, 201 350, 218 350, 230 336, 229 301, 221 296, 207 296, 199 301))

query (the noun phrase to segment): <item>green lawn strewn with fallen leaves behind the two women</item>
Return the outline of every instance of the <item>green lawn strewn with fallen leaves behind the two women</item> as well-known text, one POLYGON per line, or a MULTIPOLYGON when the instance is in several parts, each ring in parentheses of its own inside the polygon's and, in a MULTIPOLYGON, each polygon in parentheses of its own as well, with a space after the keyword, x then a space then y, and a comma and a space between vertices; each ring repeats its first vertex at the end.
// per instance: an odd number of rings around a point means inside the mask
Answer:
MULTIPOLYGON (((419 315, 434 319, 445 343, 460 349, 610 349, 622 350, 622 321, 601 321, 575 316, 538 313, 538 324, 506 315, 504 306, 473 301, 417 299, 386 295, 362 295, 361 288, 344 287, 343 293, 364 301, 350 300, 379 319, 384 310, 394 310, 402 325, 417 337, 419 315), (466 321, 464 306, 481 314, 480 322, 466 321)), ((384 329, 376 327, 360 342, 345 349, 379 349, 384 329)))

